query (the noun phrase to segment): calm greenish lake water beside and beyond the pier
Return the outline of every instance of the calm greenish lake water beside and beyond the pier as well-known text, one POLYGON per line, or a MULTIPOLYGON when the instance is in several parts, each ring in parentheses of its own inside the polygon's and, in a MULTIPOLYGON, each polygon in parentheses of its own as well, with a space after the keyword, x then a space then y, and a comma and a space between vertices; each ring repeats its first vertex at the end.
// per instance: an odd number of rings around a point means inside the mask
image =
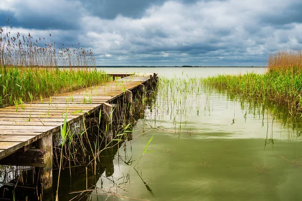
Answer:
MULTIPOLYGON (((266 69, 105 70, 187 79, 266 69)), ((95 195, 88 199, 302 200, 302 140, 297 129, 274 117, 269 106, 231 100, 214 89, 192 91, 179 99, 173 99, 171 91, 158 91, 154 105, 145 110, 145 119, 133 128, 133 140, 125 142, 126 149, 117 150, 113 175, 104 172, 96 181, 97 187, 119 196, 93 191, 95 195), (147 150, 153 152, 138 161, 152 136, 147 150)))

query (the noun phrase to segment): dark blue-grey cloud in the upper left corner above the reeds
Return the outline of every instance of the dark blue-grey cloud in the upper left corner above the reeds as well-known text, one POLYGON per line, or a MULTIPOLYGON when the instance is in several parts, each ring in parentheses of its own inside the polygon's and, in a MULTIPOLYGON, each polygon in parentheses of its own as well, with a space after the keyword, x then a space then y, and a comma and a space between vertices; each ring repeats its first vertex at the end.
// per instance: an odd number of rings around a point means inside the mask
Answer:
POLYGON ((0 20, 10 18, 14 27, 38 30, 77 30, 85 15, 81 5, 59 0, 8 2, 9 8, 0 8, 0 20))

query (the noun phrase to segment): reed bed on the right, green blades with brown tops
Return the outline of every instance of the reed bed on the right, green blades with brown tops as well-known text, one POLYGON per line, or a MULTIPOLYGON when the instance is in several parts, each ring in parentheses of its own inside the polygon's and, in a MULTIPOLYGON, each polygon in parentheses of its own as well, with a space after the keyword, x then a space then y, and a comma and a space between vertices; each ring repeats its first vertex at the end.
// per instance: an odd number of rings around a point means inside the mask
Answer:
POLYGON ((301 50, 280 50, 269 55, 265 74, 218 75, 203 83, 232 95, 270 100, 285 105, 290 113, 302 110, 302 54, 301 50))

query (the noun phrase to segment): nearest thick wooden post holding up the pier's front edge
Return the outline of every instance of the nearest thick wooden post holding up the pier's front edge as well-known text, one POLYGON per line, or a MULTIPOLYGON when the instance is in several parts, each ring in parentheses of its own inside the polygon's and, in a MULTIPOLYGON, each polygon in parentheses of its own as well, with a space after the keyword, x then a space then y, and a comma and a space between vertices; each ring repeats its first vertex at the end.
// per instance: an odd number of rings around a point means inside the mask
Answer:
POLYGON ((40 168, 42 189, 52 186, 52 135, 48 134, 37 141, 37 147, 45 151, 43 167, 40 168))

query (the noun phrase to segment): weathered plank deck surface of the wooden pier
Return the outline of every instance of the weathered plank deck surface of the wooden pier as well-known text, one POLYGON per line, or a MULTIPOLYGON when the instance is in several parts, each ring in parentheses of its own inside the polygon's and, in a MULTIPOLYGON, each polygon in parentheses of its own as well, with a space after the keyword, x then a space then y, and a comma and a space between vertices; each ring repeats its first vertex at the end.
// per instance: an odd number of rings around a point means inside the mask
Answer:
MULTIPOLYGON (((125 91, 131 91, 150 79, 150 74, 131 75, 98 86, 0 109, 0 159, 5 160, 17 151, 27 151, 34 142, 39 143, 43 138, 51 141, 52 134, 60 130, 66 115, 69 124, 79 121, 100 110, 104 103, 111 102, 125 91)), ((45 147, 48 146, 51 149, 45 142, 43 144, 41 141, 38 148, 47 149, 45 147)))

